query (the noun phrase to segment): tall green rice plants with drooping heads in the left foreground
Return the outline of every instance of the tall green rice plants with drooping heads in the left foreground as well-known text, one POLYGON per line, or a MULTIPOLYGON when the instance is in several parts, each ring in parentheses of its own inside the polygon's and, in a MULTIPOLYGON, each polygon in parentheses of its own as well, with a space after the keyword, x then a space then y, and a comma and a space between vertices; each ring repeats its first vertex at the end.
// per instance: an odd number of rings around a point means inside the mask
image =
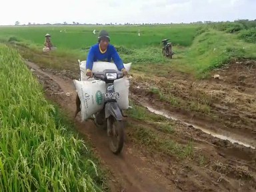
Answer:
POLYGON ((0 68, 1 191, 101 191, 91 152, 59 121, 17 51, 0 45, 0 68))

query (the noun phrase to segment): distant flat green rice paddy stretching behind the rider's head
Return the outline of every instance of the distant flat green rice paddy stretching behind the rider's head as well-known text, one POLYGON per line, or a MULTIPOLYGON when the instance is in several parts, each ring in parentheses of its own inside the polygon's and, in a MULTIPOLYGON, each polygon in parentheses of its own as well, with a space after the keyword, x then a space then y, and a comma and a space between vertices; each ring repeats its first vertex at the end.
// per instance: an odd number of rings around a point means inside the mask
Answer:
POLYGON ((59 49, 81 50, 97 43, 97 35, 105 29, 111 36, 111 43, 117 46, 140 49, 161 46, 161 40, 169 38, 175 44, 189 46, 193 42, 197 25, 172 26, 53 26, 53 27, 1 27, 0 34, 17 37, 42 45, 44 35, 50 33, 59 49), (96 30, 93 34, 93 30, 96 30), (140 33, 140 36, 138 35, 140 33))

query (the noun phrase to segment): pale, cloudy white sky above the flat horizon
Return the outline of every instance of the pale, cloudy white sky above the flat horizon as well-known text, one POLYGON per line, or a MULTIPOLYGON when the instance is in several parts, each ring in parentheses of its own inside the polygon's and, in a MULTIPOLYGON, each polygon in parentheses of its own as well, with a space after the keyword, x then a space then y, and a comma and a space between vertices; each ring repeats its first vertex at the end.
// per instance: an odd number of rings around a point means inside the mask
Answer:
POLYGON ((3 0, 0 25, 256 19, 256 0, 3 0))

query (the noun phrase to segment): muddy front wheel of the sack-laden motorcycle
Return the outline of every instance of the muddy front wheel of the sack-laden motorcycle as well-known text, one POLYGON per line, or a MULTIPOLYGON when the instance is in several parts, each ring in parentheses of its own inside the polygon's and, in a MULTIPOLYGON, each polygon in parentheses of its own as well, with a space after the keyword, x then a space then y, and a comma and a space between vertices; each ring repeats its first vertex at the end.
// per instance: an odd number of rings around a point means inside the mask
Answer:
POLYGON ((107 119, 107 135, 110 137, 109 147, 118 154, 123 149, 124 131, 123 121, 117 121, 112 116, 107 119))

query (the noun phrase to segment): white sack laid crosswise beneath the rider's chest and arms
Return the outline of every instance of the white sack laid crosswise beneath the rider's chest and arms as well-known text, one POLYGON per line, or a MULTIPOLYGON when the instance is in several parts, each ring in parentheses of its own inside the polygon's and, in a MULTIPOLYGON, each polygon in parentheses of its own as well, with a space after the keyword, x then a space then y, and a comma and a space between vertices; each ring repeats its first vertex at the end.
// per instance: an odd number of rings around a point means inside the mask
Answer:
MULTIPOLYGON (((93 81, 95 80, 94 78, 89 78, 86 75, 86 61, 81 61, 80 65, 80 71, 81 71, 81 75, 80 75, 80 81, 93 81), (88 79, 89 78, 89 79, 88 79)), ((129 72, 131 69, 131 63, 127 63, 127 64, 123 64, 125 69, 129 72)), ((94 72, 102 72, 105 69, 115 69, 116 71, 118 71, 117 66, 115 65, 115 63, 109 63, 109 62, 105 62, 105 61, 95 61, 93 62, 93 69, 91 71, 94 72)))

